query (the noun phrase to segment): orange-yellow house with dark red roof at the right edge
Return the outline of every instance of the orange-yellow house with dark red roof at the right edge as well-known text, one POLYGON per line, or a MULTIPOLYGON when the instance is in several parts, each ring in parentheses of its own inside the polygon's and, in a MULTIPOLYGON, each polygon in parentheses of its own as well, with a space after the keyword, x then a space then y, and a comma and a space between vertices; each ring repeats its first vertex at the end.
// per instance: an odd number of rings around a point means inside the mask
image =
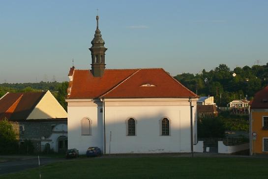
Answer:
POLYGON ((250 154, 268 154, 268 86, 250 103, 250 154))

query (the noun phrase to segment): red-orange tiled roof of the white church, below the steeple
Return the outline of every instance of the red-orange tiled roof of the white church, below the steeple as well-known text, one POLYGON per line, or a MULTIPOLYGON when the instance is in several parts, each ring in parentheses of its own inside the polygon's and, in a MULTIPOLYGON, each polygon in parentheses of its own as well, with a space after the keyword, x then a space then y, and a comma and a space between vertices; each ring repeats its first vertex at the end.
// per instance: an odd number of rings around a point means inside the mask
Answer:
POLYGON ((197 97, 163 69, 105 70, 102 77, 75 70, 69 87, 69 99, 197 97))

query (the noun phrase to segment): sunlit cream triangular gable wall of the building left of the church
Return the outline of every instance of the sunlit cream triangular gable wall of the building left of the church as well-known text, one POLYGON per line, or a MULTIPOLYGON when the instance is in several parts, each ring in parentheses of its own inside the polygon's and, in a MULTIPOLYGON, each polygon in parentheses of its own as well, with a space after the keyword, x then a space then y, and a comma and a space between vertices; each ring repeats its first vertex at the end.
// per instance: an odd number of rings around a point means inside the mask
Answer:
POLYGON ((67 112, 50 91, 43 96, 27 119, 66 118, 67 112))

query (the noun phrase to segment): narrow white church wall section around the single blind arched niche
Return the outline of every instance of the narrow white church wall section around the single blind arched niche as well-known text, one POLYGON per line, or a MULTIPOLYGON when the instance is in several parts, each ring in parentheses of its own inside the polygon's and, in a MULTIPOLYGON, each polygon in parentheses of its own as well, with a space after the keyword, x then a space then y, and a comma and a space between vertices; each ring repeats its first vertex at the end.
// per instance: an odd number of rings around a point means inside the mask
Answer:
POLYGON ((100 113, 102 103, 68 102, 68 148, 77 148, 81 155, 89 146, 103 149, 103 118, 100 113), (92 121, 91 135, 81 135, 81 119, 89 117, 92 121))

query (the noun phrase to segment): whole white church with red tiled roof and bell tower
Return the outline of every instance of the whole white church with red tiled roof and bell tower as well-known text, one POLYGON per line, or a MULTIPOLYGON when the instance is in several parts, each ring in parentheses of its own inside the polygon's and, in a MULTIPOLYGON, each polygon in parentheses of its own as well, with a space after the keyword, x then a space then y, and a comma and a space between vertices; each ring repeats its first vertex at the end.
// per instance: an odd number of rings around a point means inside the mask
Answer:
POLYGON ((91 69, 72 67, 68 74, 68 148, 191 152, 191 120, 197 143, 198 96, 161 68, 106 69, 98 19, 89 48, 91 69))

